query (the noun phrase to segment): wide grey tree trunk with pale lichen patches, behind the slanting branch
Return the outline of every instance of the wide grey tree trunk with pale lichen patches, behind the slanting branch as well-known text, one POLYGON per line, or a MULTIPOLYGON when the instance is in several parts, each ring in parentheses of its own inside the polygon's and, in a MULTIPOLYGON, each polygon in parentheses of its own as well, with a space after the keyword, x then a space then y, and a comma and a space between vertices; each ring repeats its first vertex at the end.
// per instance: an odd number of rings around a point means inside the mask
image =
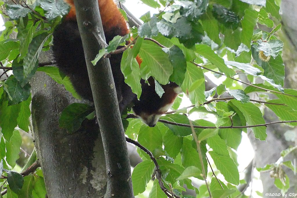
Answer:
MULTIPOLYGON (((40 62, 51 57, 42 56, 40 62)), ((64 86, 37 72, 32 86, 32 135, 49 198, 103 197, 106 168, 99 128, 91 122, 73 134, 59 128, 59 115, 75 100, 64 86)))

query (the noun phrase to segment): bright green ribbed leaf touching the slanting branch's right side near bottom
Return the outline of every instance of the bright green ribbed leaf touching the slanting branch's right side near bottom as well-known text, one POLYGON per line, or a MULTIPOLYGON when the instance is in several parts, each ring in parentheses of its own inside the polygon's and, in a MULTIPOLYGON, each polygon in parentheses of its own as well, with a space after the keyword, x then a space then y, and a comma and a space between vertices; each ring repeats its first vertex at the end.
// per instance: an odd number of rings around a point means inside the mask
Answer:
POLYGON ((132 185, 134 195, 143 193, 146 185, 151 180, 155 164, 151 160, 145 160, 136 165, 132 172, 132 185))

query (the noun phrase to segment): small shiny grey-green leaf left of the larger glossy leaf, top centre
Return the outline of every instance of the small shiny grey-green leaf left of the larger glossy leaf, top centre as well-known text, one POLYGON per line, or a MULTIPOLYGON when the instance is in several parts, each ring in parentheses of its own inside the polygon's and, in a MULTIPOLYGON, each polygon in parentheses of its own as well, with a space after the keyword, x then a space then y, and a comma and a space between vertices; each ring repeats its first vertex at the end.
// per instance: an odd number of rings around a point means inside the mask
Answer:
MULTIPOLYGON (((151 14, 149 14, 151 15, 151 14)), ((138 35, 140 37, 154 37, 158 36, 159 30, 157 28, 157 22, 159 19, 153 16, 149 21, 143 23, 138 29, 138 35)))

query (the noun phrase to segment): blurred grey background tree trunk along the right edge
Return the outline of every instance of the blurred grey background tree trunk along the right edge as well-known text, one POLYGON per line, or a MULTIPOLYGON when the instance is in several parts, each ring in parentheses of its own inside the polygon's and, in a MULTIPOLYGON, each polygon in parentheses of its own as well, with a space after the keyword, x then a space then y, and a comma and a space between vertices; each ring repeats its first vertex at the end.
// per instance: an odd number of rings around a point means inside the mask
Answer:
MULTIPOLYGON (((285 88, 296 88, 297 83, 297 2, 296 0, 282 0, 282 32, 278 34, 284 42, 283 60, 285 63, 285 88)), ((277 117, 266 108, 264 113, 266 122, 276 121, 277 117)), ((296 128, 291 128, 283 124, 274 124, 267 127, 267 141, 256 140, 251 133, 249 138, 255 151, 254 166, 263 167, 266 164, 273 164, 280 158, 280 152, 289 146, 297 144, 296 128), (295 134, 295 139, 288 139, 289 134, 295 134)), ((291 136, 292 137, 292 136, 291 136)), ((292 152, 286 156, 284 161, 297 159, 297 152, 292 152)), ((292 170, 284 169, 290 178, 290 189, 288 193, 296 193, 297 176, 292 170)), ((280 192, 274 185, 274 178, 269 172, 261 172, 260 179, 263 184, 263 197, 266 193, 280 192)))

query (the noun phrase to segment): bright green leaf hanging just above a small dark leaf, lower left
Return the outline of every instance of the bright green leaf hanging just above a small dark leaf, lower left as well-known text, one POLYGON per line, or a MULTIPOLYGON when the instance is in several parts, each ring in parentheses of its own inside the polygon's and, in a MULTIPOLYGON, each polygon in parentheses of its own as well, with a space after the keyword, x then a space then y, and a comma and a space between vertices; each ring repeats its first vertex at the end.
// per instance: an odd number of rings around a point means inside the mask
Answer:
POLYGON ((10 141, 6 141, 6 161, 14 168, 15 161, 19 159, 20 145, 22 144, 22 137, 20 132, 15 130, 10 141))

